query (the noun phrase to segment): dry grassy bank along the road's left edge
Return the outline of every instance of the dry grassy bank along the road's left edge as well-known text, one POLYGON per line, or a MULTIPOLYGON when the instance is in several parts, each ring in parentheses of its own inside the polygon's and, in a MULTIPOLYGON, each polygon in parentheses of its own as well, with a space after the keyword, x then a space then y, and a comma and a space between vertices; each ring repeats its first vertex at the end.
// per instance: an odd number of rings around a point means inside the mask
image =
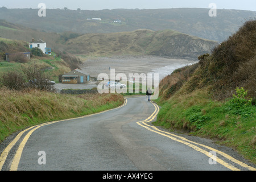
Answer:
POLYGON ((30 90, 0 90, 0 142, 39 123, 97 113, 123 104, 118 94, 63 95, 30 90))

